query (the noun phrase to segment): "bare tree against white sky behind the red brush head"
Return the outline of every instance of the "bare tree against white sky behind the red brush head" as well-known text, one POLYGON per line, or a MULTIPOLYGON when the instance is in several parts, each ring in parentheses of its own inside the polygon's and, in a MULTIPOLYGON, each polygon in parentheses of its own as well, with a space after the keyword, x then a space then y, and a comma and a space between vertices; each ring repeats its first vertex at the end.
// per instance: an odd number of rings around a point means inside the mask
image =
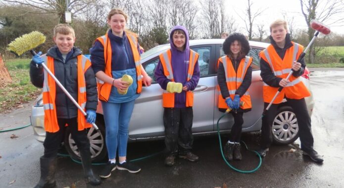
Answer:
MULTIPOLYGON (((344 4, 342 0, 300 0, 301 11, 308 26, 308 41, 313 38, 314 29, 310 27, 313 19, 327 22, 329 25, 344 25, 344 4)), ((314 63, 314 44, 309 48, 308 63, 314 63)))

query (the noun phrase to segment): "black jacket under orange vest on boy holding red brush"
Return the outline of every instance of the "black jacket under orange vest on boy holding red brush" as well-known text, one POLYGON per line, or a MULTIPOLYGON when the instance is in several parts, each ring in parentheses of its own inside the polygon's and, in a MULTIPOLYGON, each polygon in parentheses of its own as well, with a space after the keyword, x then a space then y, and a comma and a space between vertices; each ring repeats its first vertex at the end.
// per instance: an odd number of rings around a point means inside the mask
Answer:
MULTIPOLYGON (((271 45, 275 48, 277 54, 281 57, 282 60, 284 56, 286 55, 287 49, 293 46, 289 33, 287 33, 286 44, 283 49, 277 46, 276 42, 272 39, 271 36, 270 36, 270 41, 271 41, 271 45)), ((304 59, 299 63, 301 63, 300 69, 293 72, 293 76, 295 77, 301 76, 306 67, 306 63, 304 63, 304 59)), ((263 60, 262 58, 260 59, 260 76, 262 77, 263 81, 269 86, 280 87, 279 83, 282 80, 282 78, 276 77, 274 75, 274 72, 271 70, 269 63, 265 62, 265 60, 263 60)))

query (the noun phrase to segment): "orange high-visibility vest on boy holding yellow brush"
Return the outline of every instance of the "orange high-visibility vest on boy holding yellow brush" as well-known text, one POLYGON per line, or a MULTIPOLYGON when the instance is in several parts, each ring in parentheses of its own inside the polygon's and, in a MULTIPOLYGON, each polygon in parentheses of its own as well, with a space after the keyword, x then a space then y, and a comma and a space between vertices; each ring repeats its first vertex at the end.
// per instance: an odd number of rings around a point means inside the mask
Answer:
MULTIPOLYGON (((54 59, 43 55, 44 63, 54 74, 54 59)), ((78 104, 85 111, 86 106, 86 81, 85 72, 91 66, 91 62, 83 55, 77 56, 78 59, 78 104)), ((44 107, 44 127, 47 132, 57 132, 59 130, 56 116, 56 83, 55 80, 44 70, 43 82, 43 107, 44 107)), ((84 130, 92 125, 86 122, 85 116, 78 110, 78 130, 84 130)))

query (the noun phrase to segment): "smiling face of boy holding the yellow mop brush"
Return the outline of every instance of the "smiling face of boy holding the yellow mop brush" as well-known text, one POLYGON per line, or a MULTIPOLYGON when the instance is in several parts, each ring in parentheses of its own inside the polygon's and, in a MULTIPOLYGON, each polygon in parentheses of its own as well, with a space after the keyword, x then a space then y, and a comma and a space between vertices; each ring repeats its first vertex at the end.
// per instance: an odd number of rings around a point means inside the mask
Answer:
POLYGON ((70 52, 75 43, 75 37, 73 37, 72 33, 67 35, 63 35, 61 33, 57 33, 56 36, 53 38, 58 50, 62 54, 67 54, 70 52))

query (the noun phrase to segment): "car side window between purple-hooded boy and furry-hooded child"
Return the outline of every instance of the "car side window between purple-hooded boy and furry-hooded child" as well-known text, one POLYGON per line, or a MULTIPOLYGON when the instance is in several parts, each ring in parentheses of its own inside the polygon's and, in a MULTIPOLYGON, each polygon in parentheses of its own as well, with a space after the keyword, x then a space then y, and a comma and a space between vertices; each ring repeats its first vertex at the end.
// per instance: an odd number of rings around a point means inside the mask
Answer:
POLYGON ((197 54, 199 54, 198 65, 199 65, 200 77, 206 77, 209 73, 211 46, 196 47, 196 48, 192 48, 192 50, 197 52, 197 54))

